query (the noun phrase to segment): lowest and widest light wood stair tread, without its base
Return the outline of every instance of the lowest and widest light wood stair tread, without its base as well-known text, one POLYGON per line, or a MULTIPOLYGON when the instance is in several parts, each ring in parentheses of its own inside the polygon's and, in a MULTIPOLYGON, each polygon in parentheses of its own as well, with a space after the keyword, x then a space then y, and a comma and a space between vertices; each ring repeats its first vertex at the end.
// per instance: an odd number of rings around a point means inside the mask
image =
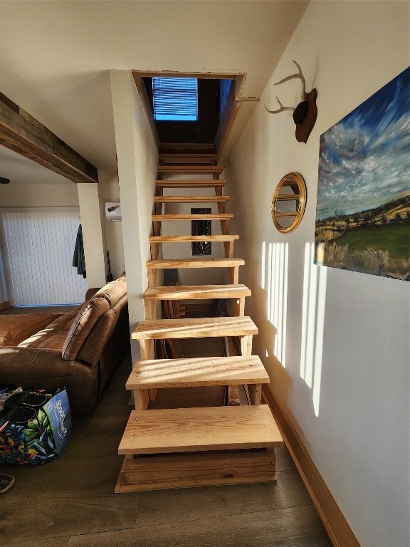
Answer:
POLYGON ((282 444, 268 405, 133 410, 118 454, 274 448, 282 444))

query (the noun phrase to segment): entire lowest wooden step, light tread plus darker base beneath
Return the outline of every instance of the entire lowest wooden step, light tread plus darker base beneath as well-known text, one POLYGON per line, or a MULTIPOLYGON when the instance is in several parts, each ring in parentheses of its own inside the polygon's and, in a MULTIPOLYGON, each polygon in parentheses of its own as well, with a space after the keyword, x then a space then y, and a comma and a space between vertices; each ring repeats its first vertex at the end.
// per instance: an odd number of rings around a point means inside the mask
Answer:
POLYGON ((273 482, 282 444, 268 405, 133 411, 115 492, 273 482))

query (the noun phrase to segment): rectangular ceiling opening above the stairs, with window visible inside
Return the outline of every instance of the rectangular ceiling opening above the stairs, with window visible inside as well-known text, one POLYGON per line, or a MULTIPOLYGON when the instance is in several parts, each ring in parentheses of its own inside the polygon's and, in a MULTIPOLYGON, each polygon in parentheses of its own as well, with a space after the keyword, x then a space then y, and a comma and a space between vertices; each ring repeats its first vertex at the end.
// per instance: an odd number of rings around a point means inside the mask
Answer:
POLYGON ((220 153, 240 103, 243 74, 132 73, 159 143, 213 145, 220 153))

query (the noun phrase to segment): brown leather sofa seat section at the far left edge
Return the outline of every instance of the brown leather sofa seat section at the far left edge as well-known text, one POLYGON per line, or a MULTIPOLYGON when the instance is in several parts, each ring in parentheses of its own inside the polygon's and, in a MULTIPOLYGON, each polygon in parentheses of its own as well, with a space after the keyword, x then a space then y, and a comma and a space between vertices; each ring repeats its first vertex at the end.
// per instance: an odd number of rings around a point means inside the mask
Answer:
POLYGON ((0 346, 19 345, 38 330, 49 325, 54 318, 53 313, 0 316, 0 346))

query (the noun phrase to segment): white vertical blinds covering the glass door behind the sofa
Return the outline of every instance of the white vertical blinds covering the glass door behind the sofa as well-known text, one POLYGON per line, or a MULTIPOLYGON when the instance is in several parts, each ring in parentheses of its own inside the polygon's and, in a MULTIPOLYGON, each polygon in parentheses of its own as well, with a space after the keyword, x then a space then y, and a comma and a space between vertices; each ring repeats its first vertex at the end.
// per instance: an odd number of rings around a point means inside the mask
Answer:
POLYGON ((12 306, 80 303, 85 280, 71 266, 80 220, 75 212, 5 212, 2 255, 12 306))

